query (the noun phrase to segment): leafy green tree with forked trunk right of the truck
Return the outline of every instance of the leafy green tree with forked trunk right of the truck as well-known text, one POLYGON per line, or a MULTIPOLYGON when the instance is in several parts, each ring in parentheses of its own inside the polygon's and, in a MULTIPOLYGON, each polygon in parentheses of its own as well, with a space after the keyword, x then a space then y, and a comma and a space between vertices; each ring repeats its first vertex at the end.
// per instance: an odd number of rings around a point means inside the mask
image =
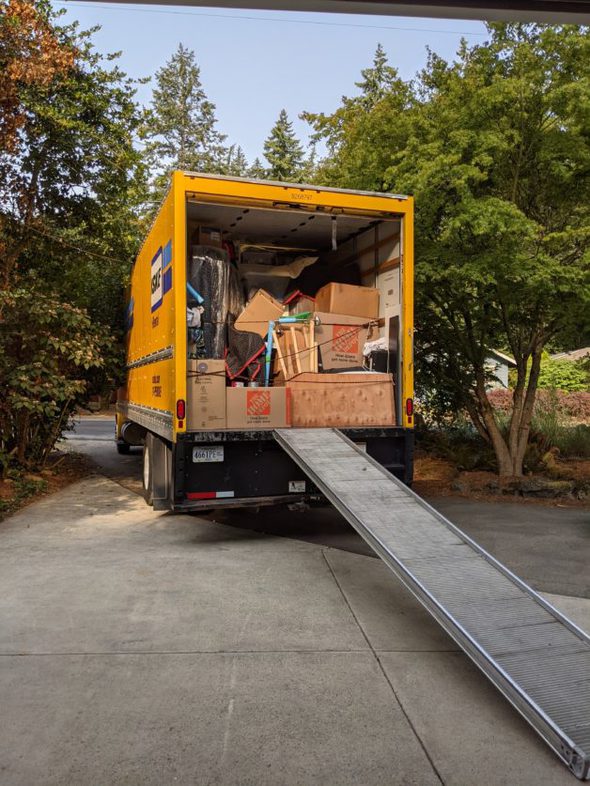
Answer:
POLYGON ((389 74, 369 110, 361 95, 307 118, 330 151, 320 180, 415 194, 421 383, 520 475, 543 348, 588 330, 590 34, 489 33, 453 63, 430 53, 414 83, 389 74), (506 431, 486 395, 490 347, 517 362, 506 431))

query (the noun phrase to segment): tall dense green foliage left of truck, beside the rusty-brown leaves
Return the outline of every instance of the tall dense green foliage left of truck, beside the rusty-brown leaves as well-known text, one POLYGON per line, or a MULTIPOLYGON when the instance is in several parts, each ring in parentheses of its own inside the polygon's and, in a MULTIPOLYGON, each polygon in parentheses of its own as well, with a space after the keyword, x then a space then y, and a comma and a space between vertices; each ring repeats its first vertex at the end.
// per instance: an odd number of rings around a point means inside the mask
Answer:
POLYGON ((46 24, 74 53, 71 67, 20 84, 17 143, 0 151, 0 450, 27 466, 43 460, 82 392, 121 365, 144 198, 135 85, 93 49, 92 31, 49 13, 46 24))

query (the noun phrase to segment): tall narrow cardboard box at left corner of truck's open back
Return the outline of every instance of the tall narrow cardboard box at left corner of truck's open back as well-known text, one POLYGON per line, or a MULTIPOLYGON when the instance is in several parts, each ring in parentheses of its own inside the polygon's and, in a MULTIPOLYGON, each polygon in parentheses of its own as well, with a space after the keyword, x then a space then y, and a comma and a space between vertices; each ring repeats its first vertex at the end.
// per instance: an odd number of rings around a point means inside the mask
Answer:
POLYGON ((225 360, 187 361, 187 429, 226 427, 225 360))

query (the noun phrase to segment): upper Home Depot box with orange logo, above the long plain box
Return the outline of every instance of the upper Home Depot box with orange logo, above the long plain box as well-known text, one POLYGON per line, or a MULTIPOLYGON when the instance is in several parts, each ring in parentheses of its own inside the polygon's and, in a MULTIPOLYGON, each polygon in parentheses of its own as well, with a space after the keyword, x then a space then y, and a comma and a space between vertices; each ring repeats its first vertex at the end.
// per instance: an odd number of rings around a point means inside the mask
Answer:
POLYGON ((362 367, 363 347, 377 328, 371 329, 362 317, 323 312, 316 312, 315 317, 315 342, 324 371, 362 367))

